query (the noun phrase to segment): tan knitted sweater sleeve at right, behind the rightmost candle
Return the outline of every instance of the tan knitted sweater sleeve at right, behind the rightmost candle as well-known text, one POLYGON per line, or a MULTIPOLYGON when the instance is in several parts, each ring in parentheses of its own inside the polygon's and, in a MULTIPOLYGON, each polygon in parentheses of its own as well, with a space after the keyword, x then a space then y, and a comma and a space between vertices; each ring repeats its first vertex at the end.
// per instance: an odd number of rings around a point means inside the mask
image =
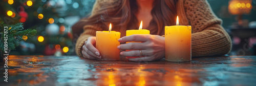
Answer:
POLYGON ((231 50, 231 39, 206 0, 186 0, 184 10, 192 27, 193 57, 224 55, 231 50))

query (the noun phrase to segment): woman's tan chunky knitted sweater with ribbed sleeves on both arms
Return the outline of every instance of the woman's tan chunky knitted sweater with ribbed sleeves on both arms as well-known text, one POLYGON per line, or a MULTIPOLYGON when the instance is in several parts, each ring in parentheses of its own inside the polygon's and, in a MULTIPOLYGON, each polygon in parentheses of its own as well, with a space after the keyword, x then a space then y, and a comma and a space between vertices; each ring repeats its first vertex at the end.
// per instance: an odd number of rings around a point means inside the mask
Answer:
MULTIPOLYGON (((115 5, 119 0, 97 0, 92 10, 92 15, 102 4, 112 3, 115 5)), ((180 25, 190 25, 193 33, 191 34, 191 53, 193 57, 224 55, 231 50, 231 39, 221 26, 222 20, 212 12, 206 0, 178 0, 176 3, 177 14, 181 17, 180 25)), ((81 26, 81 21, 73 26, 81 26)), ((82 57, 81 47, 84 41, 90 36, 95 36, 96 31, 102 30, 99 26, 83 26, 83 33, 76 41, 76 54, 82 57)), ((163 30, 164 31, 164 30, 163 30)), ((125 32, 120 30, 122 32, 125 32)), ((164 32, 163 32, 164 33, 164 32)), ((161 34, 158 34, 161 35, 161 34)), ((163 35, 163 34, 162 34, 163 35)))

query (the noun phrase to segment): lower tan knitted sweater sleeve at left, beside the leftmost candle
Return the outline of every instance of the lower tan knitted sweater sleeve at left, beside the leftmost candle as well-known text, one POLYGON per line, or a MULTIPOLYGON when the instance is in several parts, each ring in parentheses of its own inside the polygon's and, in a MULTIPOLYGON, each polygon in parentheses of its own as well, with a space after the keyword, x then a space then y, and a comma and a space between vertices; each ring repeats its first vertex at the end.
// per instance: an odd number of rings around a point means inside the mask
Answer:
POLYGON ((96 31, 102 31, 98 25, 87 25, 83 27, 83 33, 76 40, 76 54, 82 57, 81 48, 84 45, 84 41, 90 36, 96 36, 96 31))

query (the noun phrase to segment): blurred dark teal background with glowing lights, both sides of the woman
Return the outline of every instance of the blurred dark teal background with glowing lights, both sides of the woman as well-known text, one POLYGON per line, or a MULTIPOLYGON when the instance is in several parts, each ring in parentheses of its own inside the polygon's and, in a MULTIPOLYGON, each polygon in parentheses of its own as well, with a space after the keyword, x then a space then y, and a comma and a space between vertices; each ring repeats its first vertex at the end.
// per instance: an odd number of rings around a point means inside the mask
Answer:
MULTIPOLYGON (((232 39, 229 55, 256 55, 256 0, 207 0, 232 39)), ((0 0, 0 18, 37 34, 11 55, 75 55, 72 25, 89 16, 95 0, 0 0)))

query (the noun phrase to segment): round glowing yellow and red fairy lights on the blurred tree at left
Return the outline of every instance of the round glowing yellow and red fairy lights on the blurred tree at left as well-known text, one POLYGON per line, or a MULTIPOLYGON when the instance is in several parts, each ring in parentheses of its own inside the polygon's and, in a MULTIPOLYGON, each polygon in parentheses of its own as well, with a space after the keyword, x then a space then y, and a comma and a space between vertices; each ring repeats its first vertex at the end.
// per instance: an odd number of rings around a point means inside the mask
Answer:
MULTIPOLYGON (((8 0, 8 4, 10 4, 10 5, 12 5, 14 3, 14 1, 13 0, 8 0)), ((24 5, 26 5, 26 6, 32 6, 33 5, 33 2, 32 1, 30 1, 30 0, 28 0, 26 3, 24 3, 24 5)), ((8 10, 7 11, 7 15, 8 16, 10 16, 10 17, 15 17, 16 16, 16 14, 14 13, 14 12, 12 12, 11 10, 8 10)), ((38 19, 43 19, 44 18, 44 14, 38 14, 38 19)), ((47 18, 46 19, 46 21, 49 23, 49 24, 53 24, 54 23, 54 19, 53 18, 47 18)), ((24 23, 24 22, 26 22, 26 18, 25 17, 21 17, 20 19, 19 19, 19 22, 21 22, 21 23, 24 23)), ((60 28, 59 28, 59 30, 63 33, 64 31, 65 31, 65 26, 60 26, 60 28)), ((45 40, 45 38, 44 38, 44 36, 37 36, 37 40, 39 41, 39 42, 43 42, 44 40, 45 40)), ((60 50, 61 49, 61 47, 60 47, 60 45, 55 45, 55 49, 56 50, 60 50)), ((62 48, 62 51, 63 51, 63 53, 67 53, 68 51, 69 51, 69 48, 68 47, 63 47, 62 48)))

